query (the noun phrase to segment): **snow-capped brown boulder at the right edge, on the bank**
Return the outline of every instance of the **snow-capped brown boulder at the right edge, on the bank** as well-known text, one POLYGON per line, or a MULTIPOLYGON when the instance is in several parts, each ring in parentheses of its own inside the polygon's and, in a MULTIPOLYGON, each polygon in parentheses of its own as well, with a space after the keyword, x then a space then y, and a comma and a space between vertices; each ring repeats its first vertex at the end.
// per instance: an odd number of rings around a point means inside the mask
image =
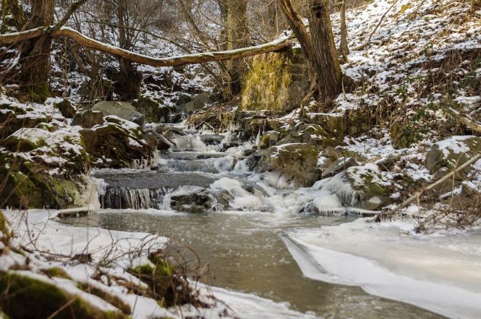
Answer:
POLYGON ((434 174, 440 168, 460 166, 476 153, 481 153, 481 137, 452 136, 432 146, 426 155, 425 166, 434 174))

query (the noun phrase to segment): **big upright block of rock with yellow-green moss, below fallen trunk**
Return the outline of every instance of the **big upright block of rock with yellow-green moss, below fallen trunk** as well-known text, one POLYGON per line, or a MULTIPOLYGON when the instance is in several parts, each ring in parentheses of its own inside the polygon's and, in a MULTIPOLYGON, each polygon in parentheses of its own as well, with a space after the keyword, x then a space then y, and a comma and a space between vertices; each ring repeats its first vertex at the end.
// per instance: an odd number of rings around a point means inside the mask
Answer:
POLYGON ((306 59, 298 48, 254 56, 242 78, 240 110, 291 111, 309 92, 306 59))

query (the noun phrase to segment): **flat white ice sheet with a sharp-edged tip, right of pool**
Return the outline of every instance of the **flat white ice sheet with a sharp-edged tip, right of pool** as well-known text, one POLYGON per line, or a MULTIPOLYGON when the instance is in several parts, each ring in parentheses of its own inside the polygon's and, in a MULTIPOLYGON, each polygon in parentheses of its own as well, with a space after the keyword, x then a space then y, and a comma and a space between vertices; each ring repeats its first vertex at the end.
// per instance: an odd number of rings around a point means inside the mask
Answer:
POLYGON ((411 234, 403 221, 299 230, 285 240, 305 276, 357 285, 451 318, 481 316, 481 231, 411 234))

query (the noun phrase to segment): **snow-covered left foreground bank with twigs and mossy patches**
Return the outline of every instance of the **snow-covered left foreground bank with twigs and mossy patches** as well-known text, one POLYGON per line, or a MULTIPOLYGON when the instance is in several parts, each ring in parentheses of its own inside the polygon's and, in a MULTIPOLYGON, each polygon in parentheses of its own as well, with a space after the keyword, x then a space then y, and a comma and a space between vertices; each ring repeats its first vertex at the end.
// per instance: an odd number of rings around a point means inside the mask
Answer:
MULTIPOLYGON (((138 213, 138 212, 137 212, 138 213)), ((128 269, 152 265, 148 252, 164 248, 168 239, 145 232, 121 232, 99 227, 76 227, 56 221, 58 210, 7 211, 14 232, 12 248, 0 247, 0 272, 23 276, 64 289, 98 309, 130 309, 131 318, 317 318, 251 294, 190 282, 206 307, 185 304, 164 308, 158 300, 135 294, 128 287, 148 289, 128 269), (19 249, 25 250, 25 256, 19 249), (2 251, 3 250, 3 251, 2 251), (87 255, 91 254, 86 261, 87 255), (78 256, 78 258, 75 257, 78 256), (72 256, 74 256, 72 258, 72 256), (85 257, 85 258, 84 258, 85 257), (25 260, 28 259, 26 262, 25 260), (18 270, 21 269, 21 270, 18 270), (102 274, 98 276, 98 273, 102 274), (123 283, 130 283, 122 285, 123 283), (89 288, 85 288, 89 287, 89 288), (104 292, 111 299, 92 293, 104 292), (116 303, 111 303, 116 300, 116 303)), ((0 233, 3 234, 3 233, 0 233)), ((1 239, 1 236, 0 236, 1 239)), ((1 241, 0 241, 1 243, 1 241)), ((1 277, 0 277, 1 278, 1 277)), ((134 289, 135 291, 135 289, 134 289)), ((119 317, 120 318, 120 317, 119 317)))

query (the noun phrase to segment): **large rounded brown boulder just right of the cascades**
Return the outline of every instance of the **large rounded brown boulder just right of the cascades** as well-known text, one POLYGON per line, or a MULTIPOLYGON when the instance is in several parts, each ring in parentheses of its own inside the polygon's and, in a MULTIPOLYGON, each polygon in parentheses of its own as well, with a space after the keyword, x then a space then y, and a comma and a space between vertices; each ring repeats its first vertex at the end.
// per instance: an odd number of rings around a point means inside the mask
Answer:
POLYGON ((310 187, 321 177, 318 154, 319 148, 306 143, 271 146, 260 157, 256 171, 276 173, 282 188, 310 187))

